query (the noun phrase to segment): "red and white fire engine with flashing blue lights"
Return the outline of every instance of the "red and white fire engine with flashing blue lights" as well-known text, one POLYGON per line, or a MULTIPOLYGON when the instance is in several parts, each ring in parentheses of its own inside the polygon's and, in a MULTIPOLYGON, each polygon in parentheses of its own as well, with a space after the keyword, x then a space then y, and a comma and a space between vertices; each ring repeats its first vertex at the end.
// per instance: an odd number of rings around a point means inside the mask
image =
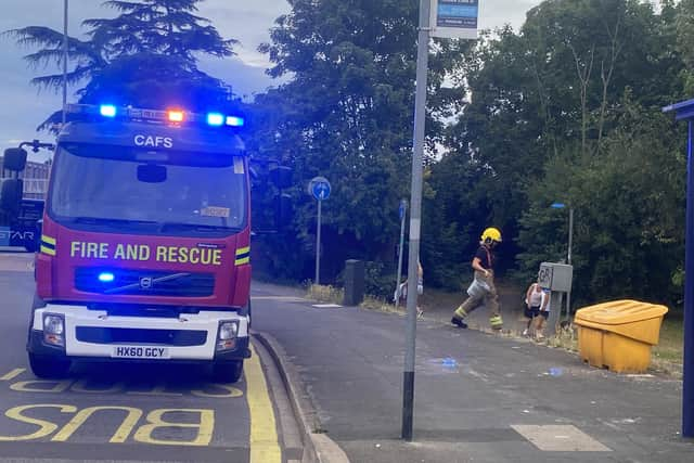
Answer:
MULTIPOLYGON (((60 376, 74 360, 206 362, 218 381, 237 381, 250 356, 244 118, 68 112, 36 255, 33 372, 60 376)), ((3 184, 0 203, 14 196, 3 184)))

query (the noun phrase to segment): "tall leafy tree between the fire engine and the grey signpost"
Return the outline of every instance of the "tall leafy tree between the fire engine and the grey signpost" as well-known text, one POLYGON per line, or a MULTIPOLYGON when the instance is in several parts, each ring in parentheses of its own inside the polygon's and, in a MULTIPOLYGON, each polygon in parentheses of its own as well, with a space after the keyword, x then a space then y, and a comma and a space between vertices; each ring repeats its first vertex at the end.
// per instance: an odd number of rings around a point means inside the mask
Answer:
MULTIPOLYGON (((397 208, 408 196, 416 60, 415 0, 291 0, 292 12, 277 21, 272 42, 261 47, 272 76, 292 80, 259 98, 265 114, 256 132, 256 154, 290 160, 296 181, 317 175, 333 183, 323 207, 326 273, 344 258, 395 262, 397 208), (269 111, 268 111, 269 110, 269 111)), ((427 120, 429 147, 464 95, 444 89, 444 78, 468 46, 437 43, 432 55, 427 120)), ((304 255, 312 254, 314 201, 299 195, 295 227, 304 255)), ((426 267, 426 265, 425 265, 426 267)))

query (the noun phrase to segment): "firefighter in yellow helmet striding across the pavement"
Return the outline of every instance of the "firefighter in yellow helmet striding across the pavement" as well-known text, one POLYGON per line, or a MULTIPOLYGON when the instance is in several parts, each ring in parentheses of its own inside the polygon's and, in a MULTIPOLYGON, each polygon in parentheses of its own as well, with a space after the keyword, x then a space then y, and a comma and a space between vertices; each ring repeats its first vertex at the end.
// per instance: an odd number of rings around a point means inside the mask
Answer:
POLYGON ((492 330, 501 330, 503 321, 499 313, 499 295, 494 286, 494 256, 493 248, 501 243, 501 232, 493 227, 486 229, 480 237, 479 248, 473 257, 472 267, 475 270, 473 283, 467 288, 467 299, 460 305, 451 323, 458 327, 467 327, 465 318, 483 304, 489 309, 489 324, 492 330))

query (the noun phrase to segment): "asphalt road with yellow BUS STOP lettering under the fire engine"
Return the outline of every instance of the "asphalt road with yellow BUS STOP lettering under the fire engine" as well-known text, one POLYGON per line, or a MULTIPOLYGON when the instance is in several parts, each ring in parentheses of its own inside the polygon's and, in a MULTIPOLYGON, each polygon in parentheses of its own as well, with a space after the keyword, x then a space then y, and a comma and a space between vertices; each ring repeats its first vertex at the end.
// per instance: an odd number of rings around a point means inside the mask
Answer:
POLYGON ((37 380, 25 352, 30 258, 0 253, 0 460, 300 458, 279 374, 257 343, 244 378, 233 385, 211 383, 204 368, 165 364, 78 364, 68 378, 37 380))

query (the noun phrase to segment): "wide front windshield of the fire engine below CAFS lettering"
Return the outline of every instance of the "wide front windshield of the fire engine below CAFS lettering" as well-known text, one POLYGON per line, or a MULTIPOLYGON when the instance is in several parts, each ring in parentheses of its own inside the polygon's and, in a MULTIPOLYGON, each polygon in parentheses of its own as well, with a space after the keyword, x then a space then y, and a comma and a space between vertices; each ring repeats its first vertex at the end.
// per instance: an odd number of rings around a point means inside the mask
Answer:
POLYGON ((53 165, 50 213, 87 228, 145 233, 240 230, 246 222, 244 169, 241 156, 218 153, 65 144, 53 165))

